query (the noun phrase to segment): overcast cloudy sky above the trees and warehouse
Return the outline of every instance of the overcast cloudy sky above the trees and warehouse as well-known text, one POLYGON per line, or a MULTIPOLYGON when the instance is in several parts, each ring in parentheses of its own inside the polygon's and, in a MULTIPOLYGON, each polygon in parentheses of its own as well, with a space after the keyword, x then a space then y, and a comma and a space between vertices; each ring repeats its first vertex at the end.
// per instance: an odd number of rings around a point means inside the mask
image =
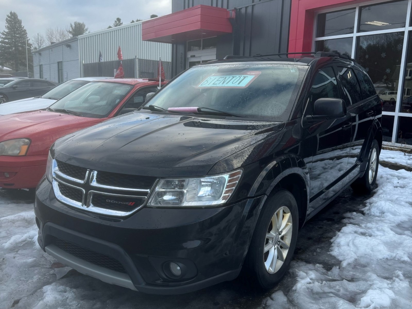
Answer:
POLYGON ((152 14, 169 14, 171 0, 0 0, 0 31, 10 11, 19 15, 31 39, 46 28, 66 28, 74 21, 86 23, 93 32, 112 25, 117 17, 126 24, 152 14))

